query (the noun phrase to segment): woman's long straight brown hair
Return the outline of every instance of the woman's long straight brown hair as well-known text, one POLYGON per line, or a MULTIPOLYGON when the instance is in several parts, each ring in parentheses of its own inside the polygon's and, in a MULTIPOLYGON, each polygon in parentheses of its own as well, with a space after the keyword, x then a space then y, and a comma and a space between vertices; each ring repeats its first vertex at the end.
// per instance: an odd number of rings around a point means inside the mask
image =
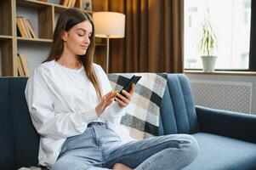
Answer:
POLYGON ((84 70, 88 79, 93 83, 96 93, 99 97, 102 97, 100 82, 96 77, 93 60, 94 60, 94 48, 95 48, 95 34, 94 34, 94 23, 89 14, 83 13, 82 11, 69 8, 66 9, 63 13, 60 14, 60 17, 57 21, 55 30, 54 30, 54 42, 51 48, 51 51, 48 55, 48 59, 43 61, 47 62, 53 59, 60 59, 60 56, 63 54, 64 51, 64 41, 62 40, 62 32, 63 31, 70 31, 71 28, 85 20, 88 20, 91 25, 93 26, 93 32, 91 34, 90 45, 88 46, 87 52, 84 55, 78 55, 79 59, 82 62, 84 70))

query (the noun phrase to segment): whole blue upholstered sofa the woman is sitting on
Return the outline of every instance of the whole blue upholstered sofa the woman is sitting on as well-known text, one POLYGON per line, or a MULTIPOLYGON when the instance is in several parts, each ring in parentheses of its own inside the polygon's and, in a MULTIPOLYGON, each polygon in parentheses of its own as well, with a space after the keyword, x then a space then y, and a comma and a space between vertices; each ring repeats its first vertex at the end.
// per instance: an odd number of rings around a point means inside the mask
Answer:
MULTIPOLYGON (((39 136, 31 123, 26 77, 0 78, 0 169, 37 165, 39 136)), ((159 135, 190 133, 199 155, 185 170, 256 169, 256 116, 196 106, 187 77, 168 74, 159 135)))

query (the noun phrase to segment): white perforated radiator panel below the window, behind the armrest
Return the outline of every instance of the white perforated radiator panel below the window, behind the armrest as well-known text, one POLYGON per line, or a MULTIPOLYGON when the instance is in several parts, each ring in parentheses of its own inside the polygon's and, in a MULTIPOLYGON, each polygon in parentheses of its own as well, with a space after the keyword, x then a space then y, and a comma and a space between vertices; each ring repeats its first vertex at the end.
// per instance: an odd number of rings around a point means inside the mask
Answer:
POLYGON ((251 113, 252 82, 190 80, 196 105, 251 113))

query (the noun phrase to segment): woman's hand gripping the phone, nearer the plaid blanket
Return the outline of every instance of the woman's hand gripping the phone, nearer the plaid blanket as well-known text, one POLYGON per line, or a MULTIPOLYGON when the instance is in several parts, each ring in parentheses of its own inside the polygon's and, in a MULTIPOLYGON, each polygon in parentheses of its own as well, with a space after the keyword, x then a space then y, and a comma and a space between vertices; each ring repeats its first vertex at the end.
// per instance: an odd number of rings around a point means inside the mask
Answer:
POLYGON ((115 99, 120 107, 125 107, 130 103, 130 100, 134 95, 134 83, 132 84, 129 92, 122 90, 122 94, 124 96, 122 96, 121 94, 117 94, 117 97, 115 99))

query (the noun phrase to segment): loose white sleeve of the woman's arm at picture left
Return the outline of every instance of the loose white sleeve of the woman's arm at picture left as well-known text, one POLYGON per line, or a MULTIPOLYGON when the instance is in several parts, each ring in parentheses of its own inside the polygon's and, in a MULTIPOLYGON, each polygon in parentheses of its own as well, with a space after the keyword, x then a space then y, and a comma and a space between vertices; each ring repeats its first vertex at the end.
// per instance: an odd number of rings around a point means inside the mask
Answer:
POLYGON ((38 69, 26 84, 26 102, 37 133, 63 139, 84 132, 89 122, 97 120, 95 108, 82 112, 55 113, 47 81, 38 69))

